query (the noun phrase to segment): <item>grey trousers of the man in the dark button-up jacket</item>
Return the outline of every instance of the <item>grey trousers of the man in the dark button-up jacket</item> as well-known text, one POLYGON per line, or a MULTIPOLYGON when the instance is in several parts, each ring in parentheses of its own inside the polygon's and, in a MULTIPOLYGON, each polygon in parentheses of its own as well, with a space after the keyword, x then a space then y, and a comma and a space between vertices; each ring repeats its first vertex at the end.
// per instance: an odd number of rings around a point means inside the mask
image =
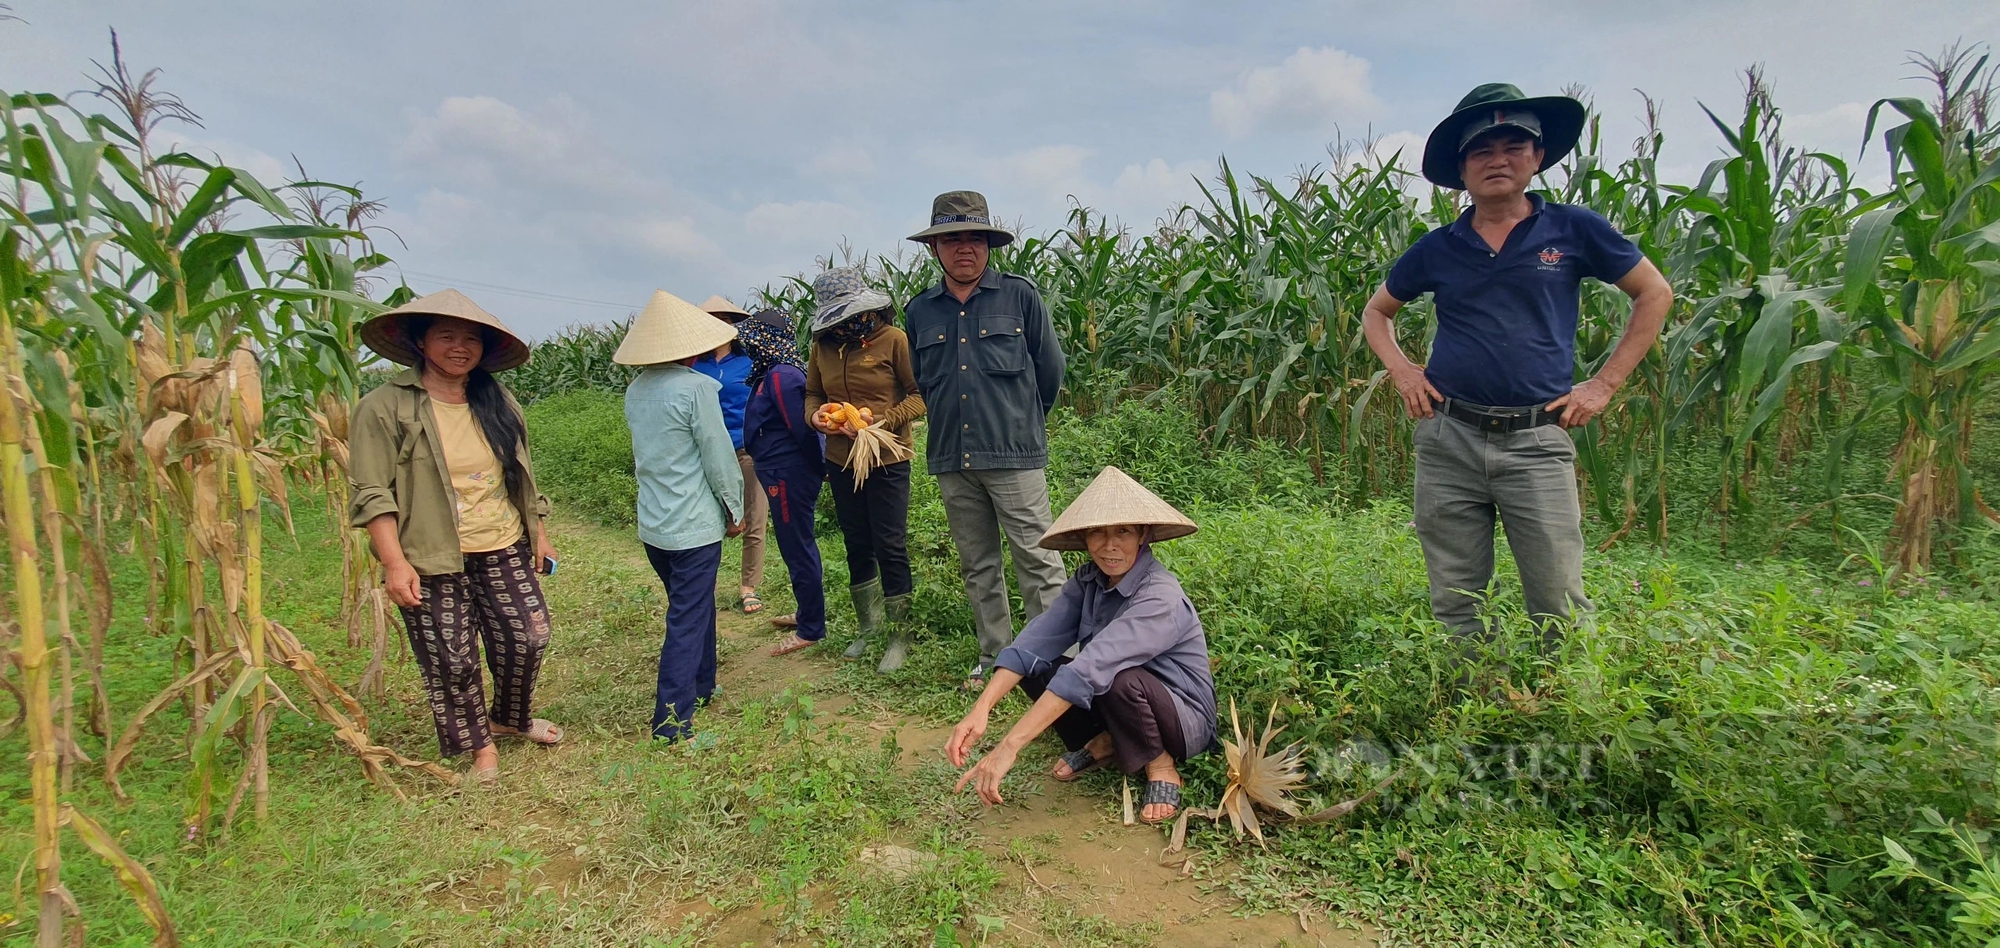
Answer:
POLYGON ((1068 578, 1062 554, 1036 546, 1054 520, 1048 514, 1048 478, 1042 468, 950 472, 938 474, 938 494, 944 496, 944 520, 952 528, 952 546, 958 546, 958 572, 966 578, 966 598, 980 632, 980 666, 992 668, 1014 640, 1000 534, 1006 532, 1014 550, 1014 580, 1028 620, 1056 602, 1068 578))

